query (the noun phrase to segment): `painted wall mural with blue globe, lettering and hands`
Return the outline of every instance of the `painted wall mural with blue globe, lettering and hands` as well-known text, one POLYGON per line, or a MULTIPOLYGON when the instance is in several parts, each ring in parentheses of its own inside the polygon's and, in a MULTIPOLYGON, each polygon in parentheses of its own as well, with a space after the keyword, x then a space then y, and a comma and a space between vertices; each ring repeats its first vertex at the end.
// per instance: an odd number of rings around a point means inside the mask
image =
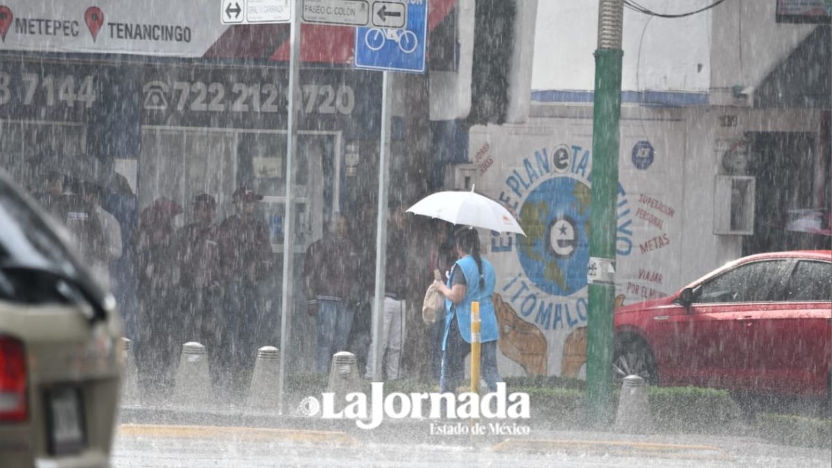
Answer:
MULTIPOLYGON (((678 200, 662 167, 666 148, 622 138, 617 200, 616 306, 676 291, 668 258, 680 244, 678 200), (634 164, 632 154, 637 153, 634 164), (649 160, 650 163, 645 161, 649 160), (634 174, 634 177, 628 175, 634 174), (651 184, 642 182, 651 179, 651 184), (647 188, 631 192, 631 183, 647 188), (665 192, 667 190, 667 192, 665 192)), ((472 132, 477 189, 508 207, 527 236, 481 233, 498 270, 504 376, 582 378, 587 346, 587 269, 592 191, 591 137, 557 141, 552 132, 472 132)), ((680 155, 681 159, 681 155, 680 155)))

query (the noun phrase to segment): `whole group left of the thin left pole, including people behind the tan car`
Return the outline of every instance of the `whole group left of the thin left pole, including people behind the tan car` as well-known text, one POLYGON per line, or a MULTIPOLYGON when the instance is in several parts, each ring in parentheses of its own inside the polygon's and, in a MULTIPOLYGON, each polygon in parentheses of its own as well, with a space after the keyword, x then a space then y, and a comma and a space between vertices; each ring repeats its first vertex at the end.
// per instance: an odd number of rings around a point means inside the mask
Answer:
POLYGON ((170 396, 183 340, 206 347, 215 391, 243 391, 262 319, 256 284, 274 270, 268 228, 256 216, 263 197, 238 188, 231 197, 234 213, 217 223, 215 197, 197 195, 189 213, 193 222, 182 227, 176 227, 176 217, 185 214, 183 207, 161 197, 138 213, 124 235, 126 222, 102 207, 106 192, 52 173, 36 197, 67 227, 102 285, 122 300, 142 395, 155 401, 170 396), (133 307, 119 294, 131 286, 133 307))

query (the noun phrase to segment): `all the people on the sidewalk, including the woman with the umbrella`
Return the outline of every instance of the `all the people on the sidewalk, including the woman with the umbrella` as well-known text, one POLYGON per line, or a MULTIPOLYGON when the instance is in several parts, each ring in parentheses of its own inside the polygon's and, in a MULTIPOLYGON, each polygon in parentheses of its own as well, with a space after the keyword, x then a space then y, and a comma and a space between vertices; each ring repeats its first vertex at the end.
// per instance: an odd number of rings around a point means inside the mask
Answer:
MULTIPOLYGON (((170 396, 184 341, 206 346, 217 394, 245 395, 256 338, 268 326, 259 310, 257 285, 275 273, 268 227, 257 214, 263 197, 250 187, 238 188, 231 197, 234 212, 222 222, 215 220, 217 202, 211 194, 197 195, 186 207, 188 213, 161 197, 137 213, 135 225, 126 226, 123 216, 113 214, 123 213, 102 204, 104 194, 94 183, 51 175, 37 198, 72 233, 79 253, 104 286, 112 287, 121 301, 133 298, 135 310, 125 315, 142 395, 156 401, 170 396), (183 215, 190 224, 177 222, 183 215)), ((419 236, 411 230, 412 221, 406 219, 404 206, 390 208, 378 346, 370 340, 376 303, 373 208, 361 208, 353 217, 334 213, 324 236, 307 248, 302 275, 307 310, 316 327, 314 370, 328 374, 333 354, 351 351, 368 379, 414 378, 405 376, 403 361, 406 353, 417 353, 427 361, 428 376, 443 390, 453 390, 470 350, 470 304, 480 301, 483 377, 493 387, 499 380, 497 323, 490 300, 495 276, 493 266, 480 256, 478 233, 424 220, 424 229, 416 231, 419 236), (406 249, 414 236, 421 237, 415 261, 406 249), (416 281, 414 267, 419 269, 416 281), (414 297, 434 281, 434 271, 441 272, 434 286, 446 297, 444 313, 432 323, 415 323, 418 315, 410 312, 421 304, 414 297), (414 341, 414 333, 423 336, 414 341), (406 349, 414 343, 423 349, 406 349)))

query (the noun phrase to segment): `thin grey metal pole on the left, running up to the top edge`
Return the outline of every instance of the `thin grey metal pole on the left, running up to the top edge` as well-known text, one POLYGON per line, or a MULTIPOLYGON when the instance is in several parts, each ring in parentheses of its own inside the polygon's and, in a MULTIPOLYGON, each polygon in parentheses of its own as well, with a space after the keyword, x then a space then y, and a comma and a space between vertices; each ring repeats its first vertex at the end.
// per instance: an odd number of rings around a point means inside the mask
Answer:
POLYGON ((289 56, 289 108, 286 124, 286 197, 283 218, 283 297, 280 302, 280 374, 278 411, 283 413, 283 390, 286 376, 286 351, 291 333, 291 316, 295 309, 292 294, 295 279, 295 206, 292 197, 292 183, 295 171, 292 162, 297 151, 298 138, 298 102, 300 101, 300 12, 302 0, 294 0, 292 5, 292 22, 290 32, 289 56))

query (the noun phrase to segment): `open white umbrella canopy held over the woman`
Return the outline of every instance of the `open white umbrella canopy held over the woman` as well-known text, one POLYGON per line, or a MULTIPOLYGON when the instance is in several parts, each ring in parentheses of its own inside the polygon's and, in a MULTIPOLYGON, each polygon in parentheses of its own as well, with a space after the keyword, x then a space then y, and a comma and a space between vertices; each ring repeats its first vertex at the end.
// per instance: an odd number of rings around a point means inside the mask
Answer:
POLYGON ((453 224, 483 227, 496 232, 518 232, 522 227, 506 207, 491 198, 471 192, 436 192, 424 197, 409 213, 439 218, 453 224))

